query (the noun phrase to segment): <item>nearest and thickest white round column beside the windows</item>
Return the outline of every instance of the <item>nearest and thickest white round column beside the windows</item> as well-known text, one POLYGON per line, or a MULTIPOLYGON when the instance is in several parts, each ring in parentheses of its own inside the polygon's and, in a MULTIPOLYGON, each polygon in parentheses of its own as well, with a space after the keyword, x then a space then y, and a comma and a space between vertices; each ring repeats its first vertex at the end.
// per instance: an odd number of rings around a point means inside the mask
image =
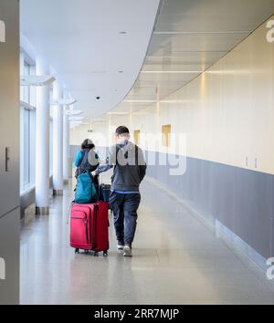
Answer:
MULTIPOLYGON (((37 57, 37 75, 49 75, 49 67, 37 57)), ((36 205, 37 214, 49 206, 49 86, 37 87, 36 113, 36 205)))

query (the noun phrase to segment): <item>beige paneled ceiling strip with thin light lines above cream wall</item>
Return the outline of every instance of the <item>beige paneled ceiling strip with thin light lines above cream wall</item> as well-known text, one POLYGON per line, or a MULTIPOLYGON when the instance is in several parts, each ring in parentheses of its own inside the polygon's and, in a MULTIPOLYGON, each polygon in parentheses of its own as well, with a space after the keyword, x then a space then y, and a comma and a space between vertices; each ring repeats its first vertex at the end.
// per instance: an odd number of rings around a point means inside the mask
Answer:
POLYGON ((182 88, 273 13, 274 0, 163 0, 142 72, 111 113, 143 109, 182 88))

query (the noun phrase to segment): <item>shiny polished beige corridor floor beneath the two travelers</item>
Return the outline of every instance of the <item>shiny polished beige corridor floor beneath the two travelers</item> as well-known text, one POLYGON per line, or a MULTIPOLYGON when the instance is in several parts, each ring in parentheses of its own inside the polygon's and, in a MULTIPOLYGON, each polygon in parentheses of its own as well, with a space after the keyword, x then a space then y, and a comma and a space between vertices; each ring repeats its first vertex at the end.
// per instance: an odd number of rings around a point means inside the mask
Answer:
POLYGON ((71 199, 68 187, 22 229, 21 304, 274 304, 261 269, 152 183, 142 184, 132 258, 116 251, 112 225, 108 257, 75 255, 71 199))

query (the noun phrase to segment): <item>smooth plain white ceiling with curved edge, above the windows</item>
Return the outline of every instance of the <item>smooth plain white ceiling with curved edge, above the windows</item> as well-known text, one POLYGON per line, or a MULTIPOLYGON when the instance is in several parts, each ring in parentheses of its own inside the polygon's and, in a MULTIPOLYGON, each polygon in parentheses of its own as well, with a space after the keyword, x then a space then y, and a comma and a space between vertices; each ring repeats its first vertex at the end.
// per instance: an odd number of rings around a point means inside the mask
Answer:
POLYGON ((21 32, 58 72, 75 109, 113 108, 142 68, 160 0, 21 0, 21 32), (100 99, 97 99, 100 97, 100 99))

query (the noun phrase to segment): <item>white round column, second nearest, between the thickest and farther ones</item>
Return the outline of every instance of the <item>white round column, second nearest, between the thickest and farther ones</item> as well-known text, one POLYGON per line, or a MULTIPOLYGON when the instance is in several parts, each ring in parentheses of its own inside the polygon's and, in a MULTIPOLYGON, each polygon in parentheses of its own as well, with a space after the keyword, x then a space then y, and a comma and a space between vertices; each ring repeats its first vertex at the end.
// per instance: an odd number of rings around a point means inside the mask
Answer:
MULTIPOLYGON (((58 81, 53 83, 53 99, 63 99, 58 81)), ((53 193, 63 193, 63 106, 53 106, 53 193)))

